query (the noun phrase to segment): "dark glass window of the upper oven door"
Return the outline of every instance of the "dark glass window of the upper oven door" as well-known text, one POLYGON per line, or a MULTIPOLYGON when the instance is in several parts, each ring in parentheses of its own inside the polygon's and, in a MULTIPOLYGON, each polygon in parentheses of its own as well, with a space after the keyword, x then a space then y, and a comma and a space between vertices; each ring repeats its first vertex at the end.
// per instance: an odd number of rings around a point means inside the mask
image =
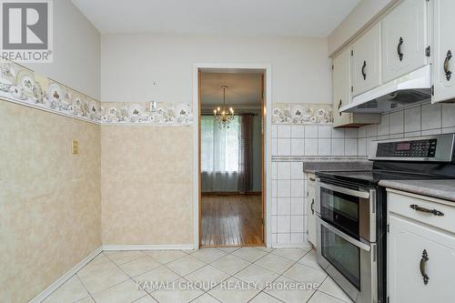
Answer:
POLYGON ((359 239, 359 197, 320 188, 320 217, 359 239))

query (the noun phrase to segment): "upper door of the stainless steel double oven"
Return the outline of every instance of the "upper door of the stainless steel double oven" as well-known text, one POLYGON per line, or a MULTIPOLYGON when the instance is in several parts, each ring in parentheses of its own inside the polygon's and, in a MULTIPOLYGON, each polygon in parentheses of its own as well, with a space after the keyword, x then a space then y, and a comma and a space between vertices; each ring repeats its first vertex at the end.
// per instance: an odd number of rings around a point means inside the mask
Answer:
POLYGON ((322 220, 356 239, 376 242, 376 190, 318 182, 316 212, 322 220))

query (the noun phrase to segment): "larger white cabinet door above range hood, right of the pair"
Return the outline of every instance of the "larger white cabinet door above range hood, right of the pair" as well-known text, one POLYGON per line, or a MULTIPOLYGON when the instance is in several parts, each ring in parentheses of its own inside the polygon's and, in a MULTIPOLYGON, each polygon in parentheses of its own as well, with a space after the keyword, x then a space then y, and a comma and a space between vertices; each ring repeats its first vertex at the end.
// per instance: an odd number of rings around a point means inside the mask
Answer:
POLYGON ((404 0, 382 19, 382 83, 427 64, 427 5, 404 0))

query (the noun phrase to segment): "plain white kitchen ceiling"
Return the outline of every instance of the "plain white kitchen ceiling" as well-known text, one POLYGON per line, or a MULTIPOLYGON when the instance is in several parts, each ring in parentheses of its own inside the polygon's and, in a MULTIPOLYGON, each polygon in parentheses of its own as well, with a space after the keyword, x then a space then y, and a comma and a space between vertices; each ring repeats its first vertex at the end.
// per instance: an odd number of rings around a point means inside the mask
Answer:
POLYGON ((327 37, 360 0, 72 0, 102 34, 327 37))

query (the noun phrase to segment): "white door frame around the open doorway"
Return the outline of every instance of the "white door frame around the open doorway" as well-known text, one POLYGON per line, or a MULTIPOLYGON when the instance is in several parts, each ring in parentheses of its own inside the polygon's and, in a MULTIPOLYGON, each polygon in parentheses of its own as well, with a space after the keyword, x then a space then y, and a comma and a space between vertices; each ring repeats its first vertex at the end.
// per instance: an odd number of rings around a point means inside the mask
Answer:
POLYGON ((265 124, 264 124, 264 137, 263 137, 263 148, 264 150, 264 162, 263 162, 263 177, 264 182, 262 184, 262 195, 263 195, 263 217, 264 217, 264 244, 266 247, 272 245, 272 231, 271 231, 271 214, 268 209, 271 207, 271 111, 272 111, 272 68, 269 64, 245 64, 245 63, 195 63, 193 64, 193 248, 199 248, 200 232, 201 232, 201 207, 200 207, 200 161, 199 161, 199 128, 200 128, 200 98, 199 98, 199 70, 201 69, 220 69, 220 70, 241 70, 241 69, 260 69, 264 71, 265 76, 265 89, 264 89, 264 113, 265 124))

